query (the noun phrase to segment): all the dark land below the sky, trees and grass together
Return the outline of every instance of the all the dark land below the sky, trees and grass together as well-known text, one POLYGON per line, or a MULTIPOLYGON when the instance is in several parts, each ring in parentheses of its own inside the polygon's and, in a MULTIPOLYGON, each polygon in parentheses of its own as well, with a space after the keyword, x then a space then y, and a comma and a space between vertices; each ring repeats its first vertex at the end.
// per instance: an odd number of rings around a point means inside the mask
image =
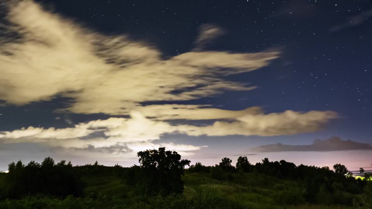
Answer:
POLYGON ((140 165, 72 166, 45 158, 9 164, 0 174, 0 209, 36 208, 372 208, 372 181, 347 168, 296 166, 284 160, 235 166, 190 165, 165 148, 138 152, 140 165), (185 169, 185 166, 190 167, 185 169))

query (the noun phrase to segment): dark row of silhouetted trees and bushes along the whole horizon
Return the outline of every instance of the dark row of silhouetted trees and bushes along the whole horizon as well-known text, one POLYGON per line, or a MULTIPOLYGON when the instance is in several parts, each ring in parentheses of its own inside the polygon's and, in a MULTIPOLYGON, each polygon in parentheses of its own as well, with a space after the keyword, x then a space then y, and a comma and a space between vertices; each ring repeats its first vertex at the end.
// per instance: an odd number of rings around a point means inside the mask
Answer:
MULTIPOLYGON (((31 161, 25 165, 21 161, 9 164, 9 173, 0 175, 0 199, 20 199, 25 196, 44 194, 56 197, 73 195, 83 196, 84 182, 82 176, 113 175, 122 179, 135 192, 147 195, 181 194, 184 190, 182 176, 187 173, 209 173, 212 179, 233 181, 237 176, 253 173, 255 175, 273 176, 279 179, 293 179, 304 185, 303 198, 307 202, 322 204, 351 205, 353 196, 371 191, 366 178, 356 179, 344 165, 335 164, 333 170, 328 167, 295 165, 285 160, 251 164, 246 156, 240 156, 237 163, 225 157, 219 164, 205 166, 200 162, 190 165, 177 152, 158 148, 137 153, 139 165, 123 168, 116 164, 113 167, 94 164, 72 166, 71 162, 62 160, 55 163, 50 157, 39 164, 31 161), (189 166, 189 168, 186 168, 189 166), (237 175, 238 174, 238 175, 237 175)), ((288 194, 286 194, 288 196, 288 194)), ((364 195, 364 194, 363 194, 364 195)), ((302 198, 302 197, 301 197, 302 198)), ((368 202, 368 200, 366 200, 368 202)), ((360 200, 361 205, 366 205, 360 200)))

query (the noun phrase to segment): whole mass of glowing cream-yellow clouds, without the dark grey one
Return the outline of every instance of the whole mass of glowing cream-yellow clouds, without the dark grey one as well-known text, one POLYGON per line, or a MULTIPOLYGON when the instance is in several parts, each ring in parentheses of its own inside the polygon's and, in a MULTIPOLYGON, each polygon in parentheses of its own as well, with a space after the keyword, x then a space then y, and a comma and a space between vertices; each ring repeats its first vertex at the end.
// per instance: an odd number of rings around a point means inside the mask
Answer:
MULTIPOLYGON (((17 38, 0 36, 0 100, 22 106, 68 97, 68 106, 57 112, 130 118, 92 120, 60 129, 24 127, 0 132, 2 143, 38 143, 65 152, 73 149, 76 155, 86 155, 93 149, 104 156, 128 157, 135 151, 162 146, 192 155, 206 146, 158 140, 163 134, 175 133, 290 135, 317 131, 337 118, 331 111, 265 114, 261 107, 234 111, 210 105, 169 104, 225 91, 254 90, 256 86, 225 78, 265 67, 280 56, 279 51, 201 51, 206 41, 222 34, 216 26, 201 27, 198 50, 165 59, 150 43, 133 41, 126 35, 92 32, 31 0, 14 1, 7 8, 7 23, 1 30, 17 38), (154 101, 167 105, 143 105, 154 101), (215 122, 194 126, 169 121, 175 119, 215 122)), ((66 122, 73 124, 70 119, 66 122)))

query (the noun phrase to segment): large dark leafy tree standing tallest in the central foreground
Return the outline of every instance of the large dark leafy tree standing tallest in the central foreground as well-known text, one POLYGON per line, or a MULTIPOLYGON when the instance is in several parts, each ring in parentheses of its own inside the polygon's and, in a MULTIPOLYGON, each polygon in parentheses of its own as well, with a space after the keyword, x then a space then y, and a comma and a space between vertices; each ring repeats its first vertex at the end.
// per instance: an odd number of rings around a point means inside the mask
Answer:
POLYGON ((140 151, 137 156, 140 167, 132 167, 128 176, 139 192, 163 196, 183 192, 184 182, 181 176, 184 174, 183 169, 191 161, 181 160, 181 155, 166 151, 164 147, 140 151))

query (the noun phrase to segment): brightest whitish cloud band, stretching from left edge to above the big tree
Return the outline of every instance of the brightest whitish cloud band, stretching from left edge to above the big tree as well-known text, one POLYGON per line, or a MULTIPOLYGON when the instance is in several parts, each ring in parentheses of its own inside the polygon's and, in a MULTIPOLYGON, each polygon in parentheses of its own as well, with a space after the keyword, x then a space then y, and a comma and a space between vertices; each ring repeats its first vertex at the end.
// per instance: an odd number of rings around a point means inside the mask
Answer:
POLYGON ((0 132, 4 143, 36 142, 54 147, 95 148, 125 145, 129 142, 149 142, 160 139, 163 133, 176 131, 175 126, 162 121, 152 121, 140 113, 132 112, 131 118, 109 118, 79 123, 74 128, 28 127, 0 132), (83 138, 102 132, 105 137, 83 138))

